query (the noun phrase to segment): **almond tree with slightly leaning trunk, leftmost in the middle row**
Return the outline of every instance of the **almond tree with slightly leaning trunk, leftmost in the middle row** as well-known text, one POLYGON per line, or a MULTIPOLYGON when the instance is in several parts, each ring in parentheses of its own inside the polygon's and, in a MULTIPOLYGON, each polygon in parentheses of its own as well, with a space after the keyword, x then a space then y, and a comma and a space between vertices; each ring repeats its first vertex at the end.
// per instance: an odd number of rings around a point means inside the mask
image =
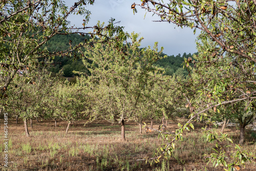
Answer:
POLYGON ((27 70, 22 75, 15 75, 6 91, 8 97, 4 109, 24 120, 26 136, 30 136, 27 120, 44 114, 42 99, 48 95, 56 79, 46 68, 27 70))

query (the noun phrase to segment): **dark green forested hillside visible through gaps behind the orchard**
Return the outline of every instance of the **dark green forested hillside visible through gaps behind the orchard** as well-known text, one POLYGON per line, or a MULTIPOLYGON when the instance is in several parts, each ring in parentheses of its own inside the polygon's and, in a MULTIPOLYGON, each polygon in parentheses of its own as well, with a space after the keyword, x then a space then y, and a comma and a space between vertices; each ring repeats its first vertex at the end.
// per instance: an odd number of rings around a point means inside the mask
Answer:
MULTIPOLYGON (((58 34, 50 39, 44 48, 47 48, 49 52, 55 51, 65 51, 70 47, 70 40, 72 44, 78 45, 79 42, 84 42, 84 39, 89 40, 91 37, 89 35, 79 35, 79 34, 71 34, 71 35, 62 35, 58 34)), ((166 54, 162 54, 165 56, 166 54)), ((184 62, 184 57, 192 57, 192 54, 184 53, 182 56, 178 54, 174 55, 166 55, 166 58, 160 59, 156 62, 157 67, 164 68, 166 75, 172 76, 180 76, 185 78, 188 74, 186 70, 183 69, 182 63, 184 62)), ((73 56, 55 56, 53 58, 54 67, 51 68, 51 71, 54 73, 59 72, 61 69, 63 70, 63 76, 72 77, 74 75, 73 71, 79 72, 87 72, 86 67, 84 67, 81 59, 74 59, 73 56)))

